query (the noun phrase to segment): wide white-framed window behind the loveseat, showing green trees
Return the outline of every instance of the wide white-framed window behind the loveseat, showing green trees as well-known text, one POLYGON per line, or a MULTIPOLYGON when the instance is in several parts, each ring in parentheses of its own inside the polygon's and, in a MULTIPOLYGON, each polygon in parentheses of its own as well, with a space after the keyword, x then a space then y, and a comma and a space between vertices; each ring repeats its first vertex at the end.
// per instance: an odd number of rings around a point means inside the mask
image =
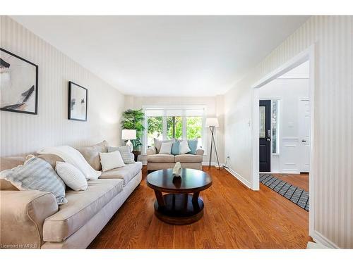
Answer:
POLYGON ((153 146, 153 139, 197 139, 198 148, 204 146, 204 108, 200 106, 174 108, 144 107, 145 149, 153 146))

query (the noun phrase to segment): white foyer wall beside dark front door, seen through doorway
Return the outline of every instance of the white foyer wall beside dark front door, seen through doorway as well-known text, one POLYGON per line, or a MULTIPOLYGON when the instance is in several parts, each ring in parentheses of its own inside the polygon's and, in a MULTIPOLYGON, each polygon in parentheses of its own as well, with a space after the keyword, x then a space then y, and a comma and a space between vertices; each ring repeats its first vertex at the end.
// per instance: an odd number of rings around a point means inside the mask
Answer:
POLYGON ((258 90, 261 100, 280 100, 280 154, 271 153, 271 172, 300 172, 299 99, 309 98, 309 68, 307 70, 306 78, 296 78, 298 75, 292 70, 258 90))

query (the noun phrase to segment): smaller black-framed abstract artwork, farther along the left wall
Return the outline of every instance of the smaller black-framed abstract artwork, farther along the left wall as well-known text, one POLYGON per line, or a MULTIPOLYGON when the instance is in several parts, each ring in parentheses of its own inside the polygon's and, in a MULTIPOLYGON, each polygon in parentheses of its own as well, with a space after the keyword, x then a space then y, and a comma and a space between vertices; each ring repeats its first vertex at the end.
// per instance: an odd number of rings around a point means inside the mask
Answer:
POLYGON ((68 82, 68 119, 87 121, 87 89, 68 82))

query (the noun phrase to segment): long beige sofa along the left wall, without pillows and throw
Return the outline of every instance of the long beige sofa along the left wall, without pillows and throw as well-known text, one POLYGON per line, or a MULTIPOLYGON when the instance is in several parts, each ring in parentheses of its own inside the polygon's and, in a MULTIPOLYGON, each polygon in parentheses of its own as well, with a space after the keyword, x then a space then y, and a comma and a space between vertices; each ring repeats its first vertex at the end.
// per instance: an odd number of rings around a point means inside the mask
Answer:
MULTIPOLYGON (((85 156, 85 155, 83 155, 85 156)), ((39 155, 52 166, 61 158, 39 155)), ((23 164, 24 157, 1 158, 0 170, 23 164)), ((54 194, 18 191, 0 180, 0 248, 85 249, 140 184, 142 163, 102 172, 85 191, 66 189, 68 203, 54 194)))

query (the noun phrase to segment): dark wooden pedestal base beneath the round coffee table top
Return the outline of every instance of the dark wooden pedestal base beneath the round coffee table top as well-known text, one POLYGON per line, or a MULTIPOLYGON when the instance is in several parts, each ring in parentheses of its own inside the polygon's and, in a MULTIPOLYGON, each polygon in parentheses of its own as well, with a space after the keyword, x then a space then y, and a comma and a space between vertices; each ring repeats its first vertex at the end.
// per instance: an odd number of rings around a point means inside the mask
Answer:
POLYGON ((155 201, 155 215, 168 224, 189 225, 203 216, 203 201, 198 194, 164 194, 160 203, 155 201))

